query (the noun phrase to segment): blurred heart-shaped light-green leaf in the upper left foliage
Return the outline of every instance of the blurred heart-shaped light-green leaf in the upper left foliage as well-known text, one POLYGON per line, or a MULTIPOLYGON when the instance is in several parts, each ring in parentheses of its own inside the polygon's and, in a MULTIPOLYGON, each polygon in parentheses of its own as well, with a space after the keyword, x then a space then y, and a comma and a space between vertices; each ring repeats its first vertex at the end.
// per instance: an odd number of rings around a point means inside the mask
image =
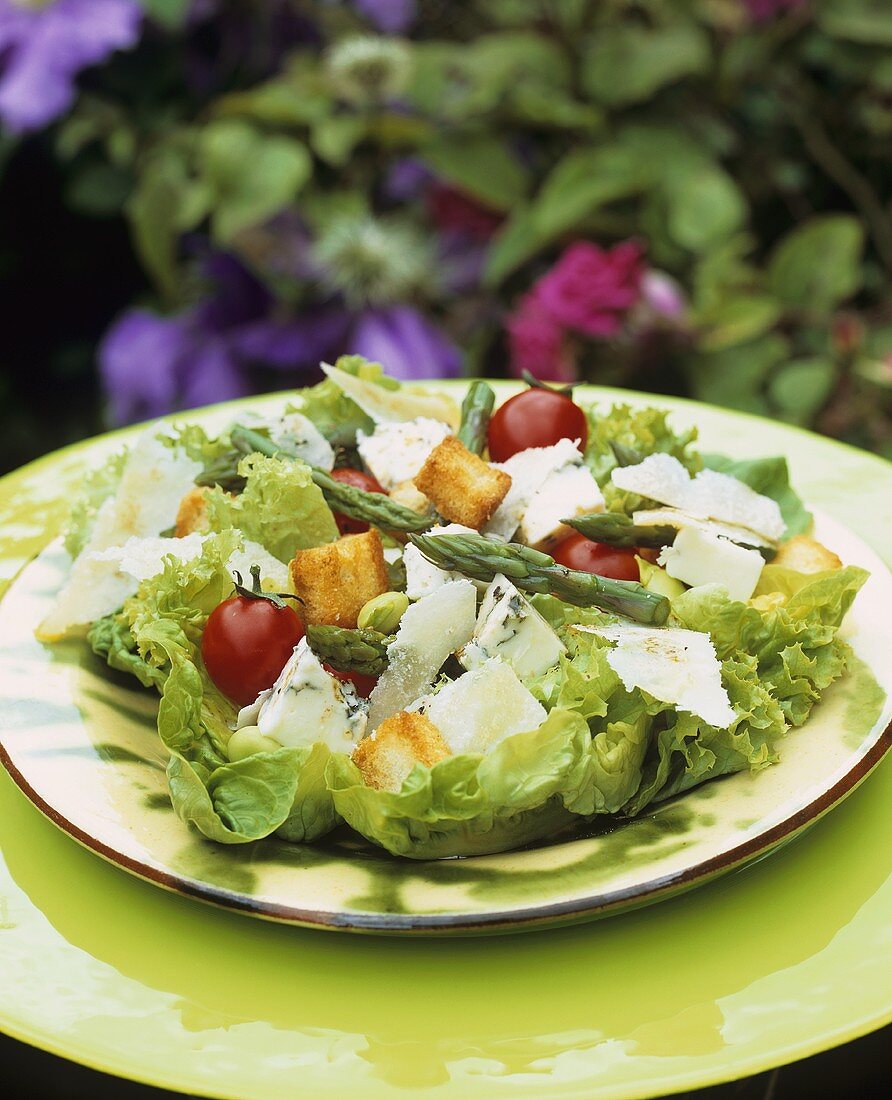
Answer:
POLYGON ((214 193, 213 235, 223 243, 278 213, 312 174, 310 154, 301 142, 261 133, 235 119, 205 128, 199 163, 214 193))

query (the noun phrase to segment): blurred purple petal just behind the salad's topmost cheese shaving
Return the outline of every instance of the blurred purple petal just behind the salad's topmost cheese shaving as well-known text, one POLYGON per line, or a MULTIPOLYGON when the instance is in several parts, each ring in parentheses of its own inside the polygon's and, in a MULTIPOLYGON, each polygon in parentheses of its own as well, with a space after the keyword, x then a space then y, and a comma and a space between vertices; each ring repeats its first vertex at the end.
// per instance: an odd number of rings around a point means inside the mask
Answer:
POLYGON ((449 378, 462 366, 458 349, 411 306, 366 309, 349 351, 375 360, 395 378, 449 378))

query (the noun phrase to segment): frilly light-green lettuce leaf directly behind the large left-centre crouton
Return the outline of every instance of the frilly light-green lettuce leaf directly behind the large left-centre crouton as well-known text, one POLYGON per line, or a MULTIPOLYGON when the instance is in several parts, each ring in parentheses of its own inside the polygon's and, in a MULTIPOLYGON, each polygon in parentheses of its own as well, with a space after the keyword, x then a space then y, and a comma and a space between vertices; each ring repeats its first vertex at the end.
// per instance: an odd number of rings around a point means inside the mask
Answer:
POLYGON ((246 479, 239 496, 221 488, 207 493, 211 530, 240 530, 285 562, 297 550, 338 538, 331 508, 305 463, 250 454, 239 463, 239 473, 246 479))

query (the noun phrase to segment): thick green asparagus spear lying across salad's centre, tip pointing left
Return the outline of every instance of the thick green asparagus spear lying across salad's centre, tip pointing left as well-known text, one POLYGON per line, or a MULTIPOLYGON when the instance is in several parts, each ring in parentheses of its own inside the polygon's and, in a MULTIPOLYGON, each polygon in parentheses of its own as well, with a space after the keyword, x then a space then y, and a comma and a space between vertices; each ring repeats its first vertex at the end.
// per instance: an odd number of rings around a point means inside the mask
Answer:
POLYGON ((614 581, 559 565, 553 558, 517 542, 486 535, 410 535, 432 564, 477 581, 504 573, 518 588, 540 592, 577 607, 601 607, 639 623, 661 626, 669 601, 634 581, 614 581))

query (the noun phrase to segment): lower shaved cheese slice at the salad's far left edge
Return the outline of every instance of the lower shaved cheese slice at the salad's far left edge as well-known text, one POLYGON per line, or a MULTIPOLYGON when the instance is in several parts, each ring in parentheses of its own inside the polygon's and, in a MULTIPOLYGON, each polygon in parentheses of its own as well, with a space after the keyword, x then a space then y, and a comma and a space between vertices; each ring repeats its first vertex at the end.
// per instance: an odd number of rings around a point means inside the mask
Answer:
POLYGON ((55 641, 113 614, 129 596, 135 595, 142 581, 162 571, 167 554, 190 561, 201 553, 206 538, 197 534, 183 539, 132 538, 120 547, 85 550, 78 556, 55 607, 37 628, 37 637, 55 641))

